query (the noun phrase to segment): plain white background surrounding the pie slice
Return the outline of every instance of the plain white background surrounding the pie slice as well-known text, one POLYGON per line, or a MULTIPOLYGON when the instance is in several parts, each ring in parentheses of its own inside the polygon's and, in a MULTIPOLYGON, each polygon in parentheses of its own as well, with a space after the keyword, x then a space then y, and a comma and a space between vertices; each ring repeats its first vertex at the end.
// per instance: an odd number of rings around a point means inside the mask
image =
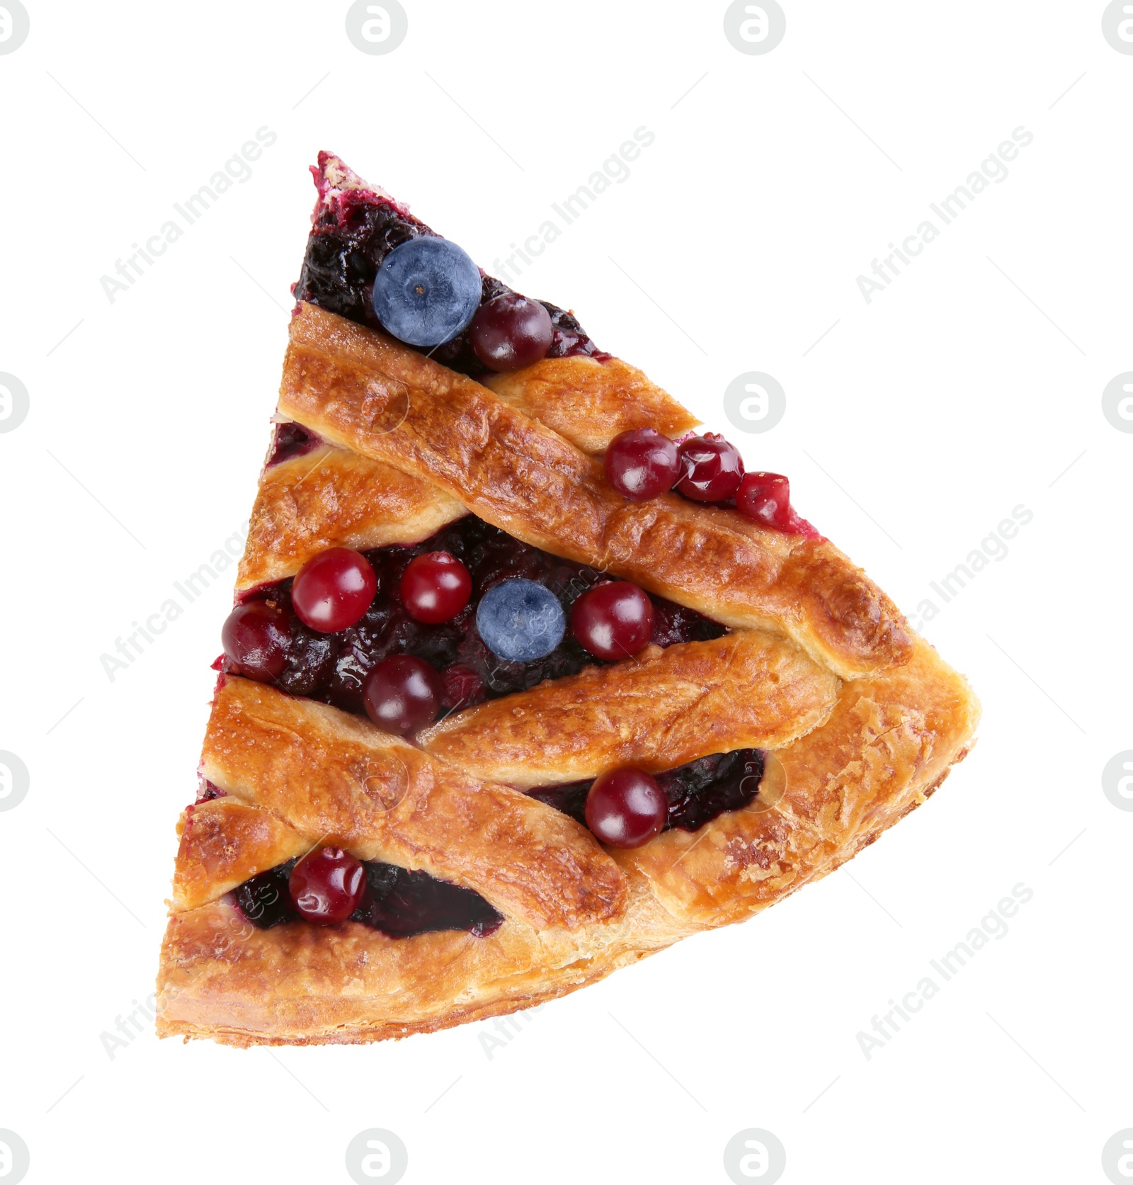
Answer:
POLYGON ((748 56, 718 0, 405 0, 404 44, 367 56, 344 2, 26 2, 0 57, 0 371, 31 398, 0 435, 0 749, 31 770, 0 813, 0 1128, 27 1179, 347 1181, 383 1127, 408 1183, 724 1183, 760 1127, 790 1185, 1103 1181, 1133 1126, 1133 814, 1101 789, 1133 748, 1133 435, 1101 412, 1133 369, 1133 56, 1103 5, 782 0, 748 56), (491 267, 642 124, 632 177, 521 287, 789 474, 910 614, 937 602, 979 745, 847 869, 492 1059, 488 1025, 245 1052, 147 1029, 111 1059, 101 1033, 153 991, 232 574, 113 683, 100 655, 247 519, 307 166, 339 153, 491 267), (262 126, 251 179, 111 305, 100 276, 262 126), (1019 126, 1007 179, 866 305, 856 277, 1019 126), (751 370, 787 393, 764 435, 722 410, 751 370), (1019 505, 943 604, 929 582, 1019 505), (1019 882, 1010 933, 868 1061, 858 1031, 1019 882))

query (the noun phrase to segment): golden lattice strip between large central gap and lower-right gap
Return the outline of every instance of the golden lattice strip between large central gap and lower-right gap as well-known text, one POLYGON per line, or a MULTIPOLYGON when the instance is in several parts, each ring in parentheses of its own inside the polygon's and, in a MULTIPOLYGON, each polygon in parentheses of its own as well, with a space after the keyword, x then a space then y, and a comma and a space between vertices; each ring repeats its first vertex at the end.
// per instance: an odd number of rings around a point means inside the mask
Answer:
POLYGON ((636 659, 488 700, 417 739, 478 777, 550 786, 619 766, 660 771, 712 752, 780 748, 826 718, 838 687, 793 643, 741 630, 651 646, 636 659))

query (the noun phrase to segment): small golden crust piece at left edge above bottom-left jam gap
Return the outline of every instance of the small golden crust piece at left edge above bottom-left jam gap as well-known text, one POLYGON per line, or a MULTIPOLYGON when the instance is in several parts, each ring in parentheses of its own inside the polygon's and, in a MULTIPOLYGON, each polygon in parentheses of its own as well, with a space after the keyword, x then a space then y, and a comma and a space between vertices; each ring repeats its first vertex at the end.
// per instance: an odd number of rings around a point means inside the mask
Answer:
POLYGON ((293 827, 235 799, 186 807, 173 873, 175 910, 196 909, 311 848, 293 827))

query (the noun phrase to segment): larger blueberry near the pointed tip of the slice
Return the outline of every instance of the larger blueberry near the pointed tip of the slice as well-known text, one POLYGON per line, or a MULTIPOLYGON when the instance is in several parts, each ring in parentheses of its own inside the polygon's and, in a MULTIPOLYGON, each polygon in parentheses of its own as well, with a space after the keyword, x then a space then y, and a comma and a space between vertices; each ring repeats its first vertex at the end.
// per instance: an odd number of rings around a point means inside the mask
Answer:
POLYGON ((480 269, 447 238, 411 238, 382 261, 373 281, 373 310, 382 325, 411 346, 455 338, 480 307, 480 269))

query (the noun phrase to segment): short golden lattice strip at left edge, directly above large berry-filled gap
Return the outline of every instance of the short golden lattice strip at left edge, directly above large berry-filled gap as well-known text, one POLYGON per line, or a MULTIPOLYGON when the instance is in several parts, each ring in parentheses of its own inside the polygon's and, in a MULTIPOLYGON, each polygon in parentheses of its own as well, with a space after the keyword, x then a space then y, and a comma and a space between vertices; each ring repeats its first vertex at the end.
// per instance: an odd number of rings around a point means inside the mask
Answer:
POLYGON ((465 513, 455 498, 380 461, 316 448, 260 479, 236 587, 294 576, 327 547, 416 543, 465 513))

